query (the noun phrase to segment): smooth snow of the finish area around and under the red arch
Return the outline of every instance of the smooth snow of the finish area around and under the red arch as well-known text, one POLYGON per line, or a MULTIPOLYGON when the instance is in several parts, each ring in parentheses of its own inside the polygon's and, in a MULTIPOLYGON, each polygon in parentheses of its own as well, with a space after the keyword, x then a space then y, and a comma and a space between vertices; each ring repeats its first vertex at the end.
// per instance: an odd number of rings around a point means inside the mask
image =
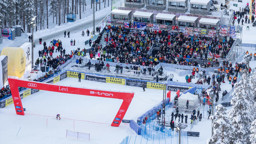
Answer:
MULTIPOLYGON (((58 85, 134 92, 124 119, 136 120, 163 99, 162 90, 66 78, 58 85)), ((172 92, 174 97, 175 92, 172 92)), ((0 138, 3 143, 119 143, 125 136, 135 136, 127 124, 110 124, 122 100, 40 91, 22 99, 25 116, 16 115, 13 104, 1 109, 0 138), (56 121, 60 114, 61 120, 56 121), (104 124, 100 124, 104 123, 104 124), (20 129, 21 127, 21 129, 20 129), (16 136, 17 132, 20 132, 16 136), (8 130, 8 132, 6 131, 8 130), (90 142, 66 138, 66 130, 90 133, 90 142)))

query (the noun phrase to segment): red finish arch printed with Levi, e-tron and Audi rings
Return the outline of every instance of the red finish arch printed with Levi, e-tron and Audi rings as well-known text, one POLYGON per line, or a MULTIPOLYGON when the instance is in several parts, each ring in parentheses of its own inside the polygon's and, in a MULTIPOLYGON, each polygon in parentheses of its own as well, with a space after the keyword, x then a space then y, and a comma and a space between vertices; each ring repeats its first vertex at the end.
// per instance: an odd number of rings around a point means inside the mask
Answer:
POLYGON ((94 89, 86 89, 86 88, 77 88, 70 86, 60 86, 55 84, 48 83, 40 83, 34 81, 26 81, 15 78, 8 78, 8 82, 10 85, 10 89, 12 92, 12 99, 15 106, 15 111, 17 115, 25 115, 20 99, 20 93, 18 87, 26 87, 44 91, 51 92, 62 92, 62 93, 70 93, 70 94, 79 94, 79 95, 87 95, 87 96, 96 96, 96 97, 104 97, 104 98, 112 98, 112 99, 122 99, 123 103, 121 107, 117 111, 116 117, 114 118, 111 126, 119 126, 124 118, 124 115, 129 108, 129 105, 134 96, 133 92, 111 92, 111 91, 101 91, 94 89))

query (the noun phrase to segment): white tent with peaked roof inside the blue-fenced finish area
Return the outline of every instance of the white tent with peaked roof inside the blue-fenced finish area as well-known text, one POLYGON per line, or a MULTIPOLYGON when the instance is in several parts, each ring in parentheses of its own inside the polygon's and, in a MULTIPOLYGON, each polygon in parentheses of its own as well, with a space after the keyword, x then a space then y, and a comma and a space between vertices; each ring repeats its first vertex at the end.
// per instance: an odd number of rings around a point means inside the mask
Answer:
POLYGON ((187 100, 189 101, 189 106, 196 106, 198 104, 198 95, 194 95, 189 92, 181 94, 181 96, 178 98, 179 107, 186 107, 187 100))

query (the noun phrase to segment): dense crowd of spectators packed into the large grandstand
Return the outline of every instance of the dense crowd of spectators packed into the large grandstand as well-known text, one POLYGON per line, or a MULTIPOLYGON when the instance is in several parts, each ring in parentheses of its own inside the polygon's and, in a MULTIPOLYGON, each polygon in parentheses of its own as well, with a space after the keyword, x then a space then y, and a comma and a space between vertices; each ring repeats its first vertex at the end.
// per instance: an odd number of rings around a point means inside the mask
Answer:
POLYGON ((215 58, 225 59, 234 40, 217 36, 184 35, 182 32, 169 33, 167 30, 153 31, 106 26, 105 46, 100 43, 101 34, 92 44, 90 58, 144 66, 154 66, 159 62, 201 67, 219 66, 215 58), (155 54, 148 51, 152 45, 158 46, 155 54), (210 56, 208 56, 210 55, 210 56), (209 58, 210 57, 210 58, 209 58), (200 59, 202 62, 197 63, 200 59), (214 63, 203 60, 214 61, 214 63))

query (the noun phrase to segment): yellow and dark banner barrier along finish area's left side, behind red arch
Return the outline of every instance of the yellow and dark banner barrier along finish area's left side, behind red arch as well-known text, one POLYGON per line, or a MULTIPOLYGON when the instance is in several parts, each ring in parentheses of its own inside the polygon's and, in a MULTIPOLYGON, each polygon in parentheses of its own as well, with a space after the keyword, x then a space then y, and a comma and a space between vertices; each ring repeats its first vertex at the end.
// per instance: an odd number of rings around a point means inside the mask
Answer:
MULTIPOLYGON (((66 77, 67 77, 67 72, 63 72, 63 73, 60 73, 60 74, 58 74, 56 76, 53 76, 53 77, 51 77, 51 78, 49 78, 47 80, 44 80, 43 82, 54 84, 54 83, 56 83, 58 81, 63 80, 66 77)), ((23 98, 25 98, 25 97, 33 94, 33 93, 36 93, 36 92, 39 92, 39 90, 26 88, 25 90, 20 92, 20 99, 23 99, 23 98)), ((7 106, 9 106, 12 103, 13 103, 12 96, 10 96, 10 97, 0 101, 0 108, 7 107, 7 106)))

